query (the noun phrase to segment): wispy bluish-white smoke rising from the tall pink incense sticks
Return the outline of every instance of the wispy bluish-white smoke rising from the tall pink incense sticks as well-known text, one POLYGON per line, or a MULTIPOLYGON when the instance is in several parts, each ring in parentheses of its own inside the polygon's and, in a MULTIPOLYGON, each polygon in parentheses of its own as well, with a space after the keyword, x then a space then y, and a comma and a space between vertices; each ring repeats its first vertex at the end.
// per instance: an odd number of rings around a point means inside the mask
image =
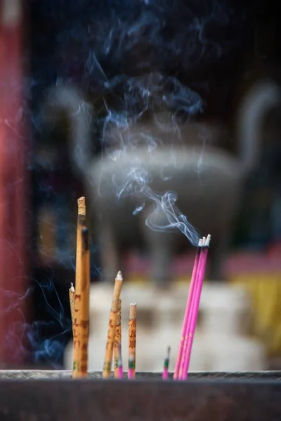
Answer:
MULTIPOLYGON (((244 16, 231 1, 215 0, 107 0, 93 1, 89 7, 81 1, 67 8, 62 0, 53 9, 50 1, 45 6, 45 18, 56 13, 59 21, 63 13, 67 21, 57 46, 63 64, 68 65, 59 69, 58 80, 65 76, 72 81, 80 79, 80 85, 98 98, 94 107, 103 156, 117 162, 133 150, 137 154, 139 147, 153 154, 162 145, 161 136, 135 133, 125 138, 125 132, 150 116, 162 133, 171 133, 168 147, 176 166, 172 138, 181 141, 178 122, 204 109, 200 95, 186 86, 186 75, 233 51, 243 34, 244 16), (170 113, 169 121, 157 119, 161 112, 170 113), (110 129, 114 126, 117 135, 112 138, 110 129)), ((102 178, 100 175, 100 185, 102 178)), ((162 180, 166 180, 164 175, 162 180)), ((151 183, 152 175, 143 173, 138 162, 132 162, 118 180, 112 174, 118 199, 141 193, 154 203, 152 215, 146 220, 148 227, 178 228, 191 243, 197 243, 195 229, 176 207, 176 193, 154 192, 151 183), (160 213, 165 215, 163 225, 157 222, 160 213)), ((100 188, 100 194, 107 193, 100 188)), ((133 214, 141 212, 145 203, 143 200, 133 214)))

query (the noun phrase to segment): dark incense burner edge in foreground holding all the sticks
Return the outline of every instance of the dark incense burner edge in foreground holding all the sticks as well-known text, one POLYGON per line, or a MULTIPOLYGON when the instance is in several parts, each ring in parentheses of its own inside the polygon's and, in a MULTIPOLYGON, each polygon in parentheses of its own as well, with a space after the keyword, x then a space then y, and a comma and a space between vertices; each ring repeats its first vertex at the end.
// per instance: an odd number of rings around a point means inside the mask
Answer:
POLYGON ((70 371, 0 371, 0 419, 20 421, 270 421, 281 414, 281 372, 190 373, 186 382, 137 373, 102 380, 70 371))

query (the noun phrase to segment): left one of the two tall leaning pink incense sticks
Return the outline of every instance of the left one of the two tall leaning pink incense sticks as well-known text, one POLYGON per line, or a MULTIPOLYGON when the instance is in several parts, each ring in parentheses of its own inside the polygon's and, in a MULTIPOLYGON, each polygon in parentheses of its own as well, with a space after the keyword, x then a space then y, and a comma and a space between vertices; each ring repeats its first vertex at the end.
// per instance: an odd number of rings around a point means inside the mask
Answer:
POLYGON ((185 307, 185 315, 183 317, 183 327, 181 329, 181 342, 180 342, 179 349, 178 349, 178 356, 176 357, 176 366, 175 366, 175 370, 174 370, 174 380, 178 380, 178 378, 179 378, 181 360, 183 358, 183 344, 184 344, 184 340, 185 340, 185 332, 186 332, 186 328, 187 328, 187 325, 188 325, 188 319, 189 319, 189 316, 190 316, 190 306, 191 306, 191 303, 192 303, 192 295, 193 295, 193 291, 194 291, 194 287, 195 287, 197 267, 198 267, 198 263, 199 263, 201 248, 202 248, 202 239, 199 240, 196 255, 195 255, 195 261, 194 261, 194 265, 193 265, 193 269, 192 269, 190 288, 189 288, 189 292, 188 292, 188 300, 187 300, 186 307, 185 307))

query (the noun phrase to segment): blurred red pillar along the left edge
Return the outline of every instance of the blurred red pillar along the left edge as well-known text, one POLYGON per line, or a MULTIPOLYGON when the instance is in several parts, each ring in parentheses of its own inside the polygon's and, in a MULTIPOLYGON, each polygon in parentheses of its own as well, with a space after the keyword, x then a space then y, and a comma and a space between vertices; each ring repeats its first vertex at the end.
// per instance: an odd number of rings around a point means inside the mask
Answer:
POLYGON ((0 365, 25 362, 27 136, 22 112, 22 0, 0 0, 0 365))

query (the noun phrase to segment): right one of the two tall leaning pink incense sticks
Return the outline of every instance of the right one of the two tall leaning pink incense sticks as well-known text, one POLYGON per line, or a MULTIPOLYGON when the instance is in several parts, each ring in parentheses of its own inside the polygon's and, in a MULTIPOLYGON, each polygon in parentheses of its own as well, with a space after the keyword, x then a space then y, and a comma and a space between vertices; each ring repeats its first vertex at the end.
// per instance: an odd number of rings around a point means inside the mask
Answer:
POLYGON ((201 291, 202 291, 204 275, 205 275, 206 266, 207 266, 207 257, 208 257, 210 241, 211 241, 211 236, 208 234, 207 240, 203 244, 202 252, 200 254, 200 262, 198 265, 197 282, 196 282, 196 287, 195 287, 194 300, 192 303, 190 323, 188 326, 188 330, 186 332, 187 334, 185 335, 185 337, 187 338, 187 348, 186 348, 186 353, 183 356, 183 373, 181 375, 181 380, 186 380, 188 378, 188 368, 190 364, 193 338, 195 334, 197 315, 198 315, 198 310, 199 310, 199 305, 200 305, 201 291))

